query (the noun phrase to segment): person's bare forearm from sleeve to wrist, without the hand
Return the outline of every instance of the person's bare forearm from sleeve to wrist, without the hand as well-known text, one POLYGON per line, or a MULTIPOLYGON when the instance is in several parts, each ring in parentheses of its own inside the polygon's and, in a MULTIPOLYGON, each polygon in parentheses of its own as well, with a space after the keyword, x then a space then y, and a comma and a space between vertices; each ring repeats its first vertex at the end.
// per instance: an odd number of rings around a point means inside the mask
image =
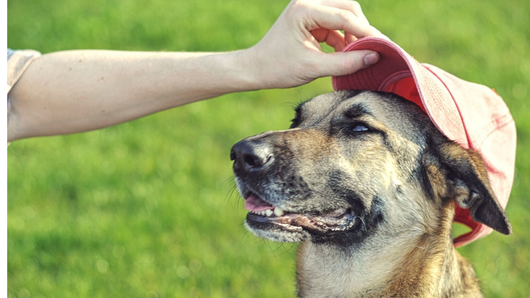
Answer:
POLYGON ((73 50, 42 55, 10 92, 8 140, 84 132, 257 89, 245 54, 73 50))

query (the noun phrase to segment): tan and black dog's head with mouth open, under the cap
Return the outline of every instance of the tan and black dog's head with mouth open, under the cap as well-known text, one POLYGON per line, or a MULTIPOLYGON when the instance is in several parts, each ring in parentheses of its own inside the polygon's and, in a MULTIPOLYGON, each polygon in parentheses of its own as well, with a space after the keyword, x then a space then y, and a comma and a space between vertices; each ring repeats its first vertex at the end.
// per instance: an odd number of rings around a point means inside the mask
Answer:
POLYGON ((320 95, 296 108, 290 129, 243 139, 231 159, 246 226, 262 238, 355 245, 376 233, 430 233, 454 201, 511 232, 480 154, 392 93, 320 95))

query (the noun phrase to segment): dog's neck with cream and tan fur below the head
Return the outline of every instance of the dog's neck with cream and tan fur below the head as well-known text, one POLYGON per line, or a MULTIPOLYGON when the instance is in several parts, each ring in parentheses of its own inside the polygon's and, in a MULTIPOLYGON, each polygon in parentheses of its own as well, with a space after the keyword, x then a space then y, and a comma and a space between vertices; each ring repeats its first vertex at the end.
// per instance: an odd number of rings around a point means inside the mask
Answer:
POLYGON ((299 246, 301 297, 482 297, 471 265, 454 249, 454 203, 428 233, 375 234, 351 249, 329 243, 299 246), (381 241, 381 239, 384 239, 381 241))

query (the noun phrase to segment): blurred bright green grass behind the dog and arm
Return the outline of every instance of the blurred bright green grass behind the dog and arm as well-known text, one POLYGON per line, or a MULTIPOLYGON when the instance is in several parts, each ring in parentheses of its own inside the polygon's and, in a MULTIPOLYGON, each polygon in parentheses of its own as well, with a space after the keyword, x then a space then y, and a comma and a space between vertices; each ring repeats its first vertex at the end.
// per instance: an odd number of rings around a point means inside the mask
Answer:
MULTIPOLYGON (((8 0, 7 45, 227 51, 254 45, 288 1, 8 0)), ((494 88, 516 120, 511 236, 458 249, 486 297, 530 290, 530 2, 360 0, 420 62, 494 88)), ((8 297, 294 297, 296 246, 240 225, 229 149, 284 129, 291 103, 332 91, 225 95, 95 132, 7 148, 8 297)))

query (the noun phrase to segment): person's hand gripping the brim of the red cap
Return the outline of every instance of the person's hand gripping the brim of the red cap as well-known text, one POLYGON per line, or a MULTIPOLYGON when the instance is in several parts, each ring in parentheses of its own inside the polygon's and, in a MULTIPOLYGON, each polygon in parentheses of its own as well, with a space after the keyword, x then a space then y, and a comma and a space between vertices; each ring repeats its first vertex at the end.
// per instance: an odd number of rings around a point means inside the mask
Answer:
POLYGON ((387 39, 368 23, 356 1, 292 0, 263 39, 246 50, 256 89, 294 87, 372 65, 379 60, 375 51, 341 52, 367 36, 387 39), (320 42, 335 52, 322 52, 320 42))

